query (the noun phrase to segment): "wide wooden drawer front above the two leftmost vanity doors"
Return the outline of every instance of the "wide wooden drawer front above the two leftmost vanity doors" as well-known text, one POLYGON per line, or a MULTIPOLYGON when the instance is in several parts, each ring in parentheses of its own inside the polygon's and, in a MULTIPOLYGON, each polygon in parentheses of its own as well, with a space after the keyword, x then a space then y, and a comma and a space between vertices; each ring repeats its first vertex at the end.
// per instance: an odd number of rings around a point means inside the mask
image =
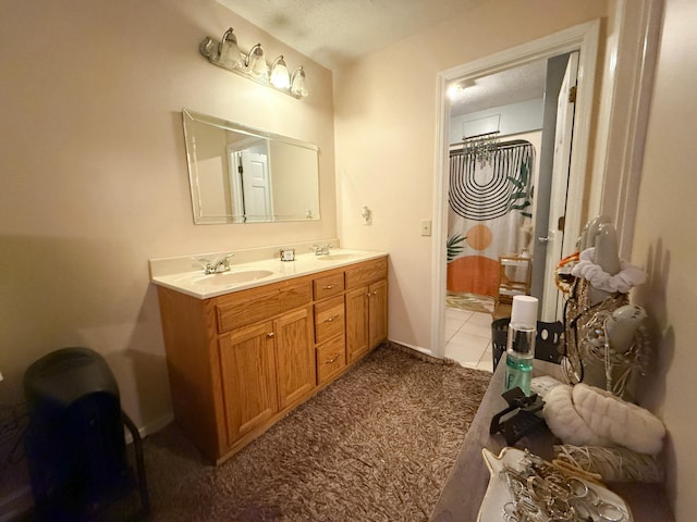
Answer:
POLYGON ((230 294, 220 299, 218 332, 223 333, 240 326, 271 319, 311 301, 309 281, 296 285, 271 285, 230 294))

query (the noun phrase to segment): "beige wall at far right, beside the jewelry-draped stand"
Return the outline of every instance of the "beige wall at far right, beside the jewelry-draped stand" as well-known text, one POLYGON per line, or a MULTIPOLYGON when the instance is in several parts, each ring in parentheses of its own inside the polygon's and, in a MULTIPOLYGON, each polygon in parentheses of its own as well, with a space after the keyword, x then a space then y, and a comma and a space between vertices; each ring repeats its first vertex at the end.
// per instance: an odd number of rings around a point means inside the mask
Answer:
POLYGON ((697 3, 668 0, 664 16, 632 259, 649 274, 635 297, 649 312, 656 352, 643 400, 669 430, 668 489, 682 522, 697 512, 697 3))

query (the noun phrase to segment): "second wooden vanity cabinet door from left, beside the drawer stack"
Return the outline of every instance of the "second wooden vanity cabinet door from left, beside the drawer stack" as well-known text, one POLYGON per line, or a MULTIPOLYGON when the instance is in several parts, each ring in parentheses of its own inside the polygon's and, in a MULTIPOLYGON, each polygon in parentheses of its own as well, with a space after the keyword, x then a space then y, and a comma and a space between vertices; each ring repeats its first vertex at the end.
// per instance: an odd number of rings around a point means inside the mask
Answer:
POLYGON ((317 384, 311 308, 273 321, 279 409, 307 396, 317 384))

